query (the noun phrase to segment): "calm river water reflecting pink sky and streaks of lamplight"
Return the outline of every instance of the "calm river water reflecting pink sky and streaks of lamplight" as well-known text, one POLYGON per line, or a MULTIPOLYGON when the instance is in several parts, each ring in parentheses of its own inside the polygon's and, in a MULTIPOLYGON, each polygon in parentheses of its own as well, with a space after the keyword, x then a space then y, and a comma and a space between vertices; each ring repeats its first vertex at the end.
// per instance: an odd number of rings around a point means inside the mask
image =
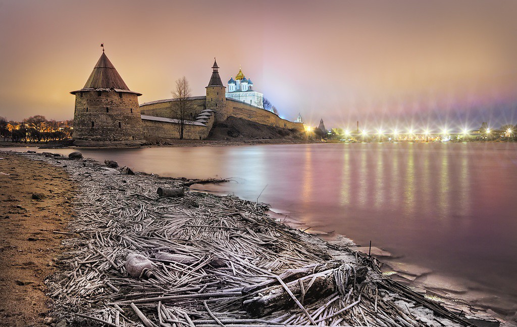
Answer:
POLYGON ((261 202, 314 229, 334 230, 362 245, 372 240, 403 262, 462 280, 474 298, 485 297, 507 313, 516 309, 515 143, 81 151, 160 175, 233 177, 236 183, 215 189, 253 201, 265 187, 261 202))

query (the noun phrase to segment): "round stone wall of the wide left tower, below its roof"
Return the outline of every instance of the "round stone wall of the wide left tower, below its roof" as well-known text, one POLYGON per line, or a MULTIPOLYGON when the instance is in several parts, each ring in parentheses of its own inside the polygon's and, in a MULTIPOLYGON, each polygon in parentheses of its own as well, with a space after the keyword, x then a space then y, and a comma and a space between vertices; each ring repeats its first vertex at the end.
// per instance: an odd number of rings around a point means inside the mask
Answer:
POLYGON ((138 96, 113 90, 78 92, 72 137, 99 142, 142 140, 138 96))

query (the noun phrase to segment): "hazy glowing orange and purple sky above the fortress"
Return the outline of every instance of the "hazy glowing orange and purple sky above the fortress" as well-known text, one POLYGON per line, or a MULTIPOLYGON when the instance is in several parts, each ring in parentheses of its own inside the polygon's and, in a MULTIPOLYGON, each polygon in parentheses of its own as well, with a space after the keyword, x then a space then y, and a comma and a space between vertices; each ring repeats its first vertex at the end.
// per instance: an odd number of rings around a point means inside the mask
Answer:
MULTIPOLYGON (((373 129, 517 123, 517 1, 1 1, 0 116, 73 117, 106 54, 140 103, 242 71, 280 115, 373 129)), ((494 126, 494 127, 497 127, 494 126)))

